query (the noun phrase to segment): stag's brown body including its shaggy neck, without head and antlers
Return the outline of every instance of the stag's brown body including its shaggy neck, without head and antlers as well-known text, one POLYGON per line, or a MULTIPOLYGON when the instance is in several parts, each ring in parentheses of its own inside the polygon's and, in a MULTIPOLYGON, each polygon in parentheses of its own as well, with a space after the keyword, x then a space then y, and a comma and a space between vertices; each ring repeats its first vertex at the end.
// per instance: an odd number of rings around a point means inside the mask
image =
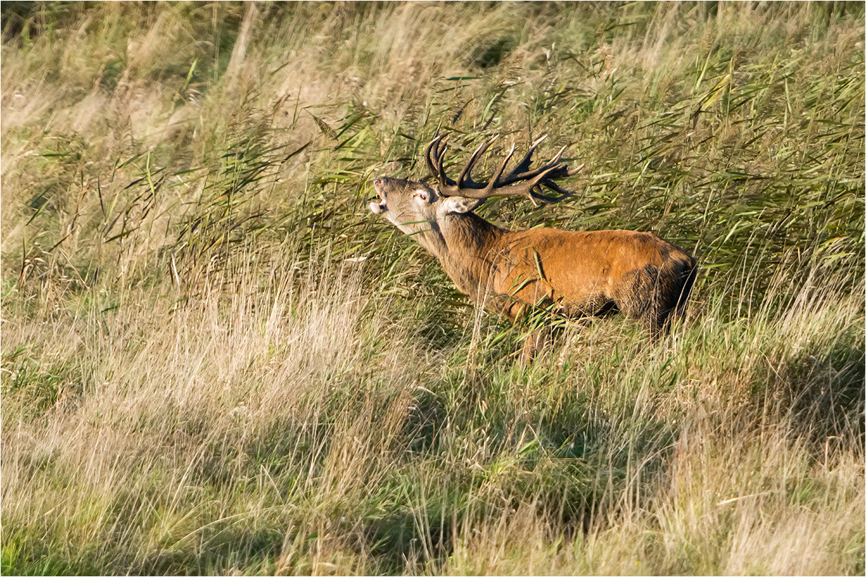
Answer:
POLYGON ((526 305, 556 305, 568 317, 616 307, 657 337, 682 308, 695 270, 694 258, 655 234, 509 231, 473 213, 449 218, 446 250, 432 252, 461 292, 512 320, 526 305))

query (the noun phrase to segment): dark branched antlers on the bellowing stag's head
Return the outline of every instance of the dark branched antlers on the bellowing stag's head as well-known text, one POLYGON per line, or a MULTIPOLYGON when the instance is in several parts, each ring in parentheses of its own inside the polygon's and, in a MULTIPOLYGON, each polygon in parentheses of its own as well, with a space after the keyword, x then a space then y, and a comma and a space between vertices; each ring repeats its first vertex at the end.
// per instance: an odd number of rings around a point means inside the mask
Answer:
POLYGON ((520 163, 517 163, 517 166, 508 172, 507 175, 502 176, 502 172, 505 170, 511 157, 514 156, 514 145, 512 145, 511 150, 508 151, 505 159, 503 159, 499 164, 499 167, 494 172, 494 176, 487 183, 476 183, 472 180, 472 167, 475 166, 475 162, 477 162, 481 155, 488 150, 490 145, 494 143, 497 138, 494 136, 493 138, 481 143, 481 145, 475 149, 475 152, 472 153, 472 156, 469 157, 469 160, 460 171, 460 176, 457 176, 457 180, 454 181, 445 174, 443 168, 445 149, 447 148, 444 139, 446 136, 447 135, 445 134, 436 135, 436 138, 433 138, 433 140, 430 141, 427 150, 424 151, 424 158, 427 160, 427 167, 430 169, 433 176, 436 176, 439 180, 439 191, 443 196, 465 196, 467 198, 528 196, 533 200, 533 202, 559 202, 574 193, 559 188, 559 185, 554 183, 552 179, 572 176, 577 174, 578 170, 584 167, 584 165, 581 164, 575 169, 568 170, 568 166, 565 163, 560 163, 559 158, 562 157, 562 153, 565 151, 565 146, 563 146, 546 164, 535 170, 529 170, 529 165, 532 163, 533 152, 538 145, 547 138, 546 136, 543 136, 533 142, 532 146, 529 147, 526 156, 524 156, 520 163), (558 192, 559 196, 551 198, 539 194, 542 185, 558 192), (538 189, 539 192, 535 192, 535 189, 538 189))

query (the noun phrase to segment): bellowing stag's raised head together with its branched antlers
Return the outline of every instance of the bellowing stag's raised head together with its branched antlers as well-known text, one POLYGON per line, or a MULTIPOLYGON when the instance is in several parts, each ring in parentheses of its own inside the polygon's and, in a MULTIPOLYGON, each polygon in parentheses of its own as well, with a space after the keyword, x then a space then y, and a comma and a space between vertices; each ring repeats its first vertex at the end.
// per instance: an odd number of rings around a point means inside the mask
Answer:
POLYGON ((531 170, 533 152, 544 138, 546 137, 536 140, 520 163, 503 175, 508 161, 514 155, 512 146, 494 176, 486 183, 476 183, 472 180, 472 168, 496 137, 488 139, 475 149, 455 181, 445 175, 443 168, 447 147, 445 135, 436 136, 424 152, 427 167, 435 183, 380 176, 373 181, 378 202, 371 202, 370 210, 377 215, 384 215, 404 233, 415 234, 438 230, 450 217, 466 215, 491 196, 527 196, 533 202, 559 202, 572 193, 560 189, 553 179, 571 176, 581 167, 568 170, 565 163, 559 162, 565 151, 563 146, 553 159, 531 170), (541 194, 542 185, 559 193, 559 196, 544 196, 541 194))

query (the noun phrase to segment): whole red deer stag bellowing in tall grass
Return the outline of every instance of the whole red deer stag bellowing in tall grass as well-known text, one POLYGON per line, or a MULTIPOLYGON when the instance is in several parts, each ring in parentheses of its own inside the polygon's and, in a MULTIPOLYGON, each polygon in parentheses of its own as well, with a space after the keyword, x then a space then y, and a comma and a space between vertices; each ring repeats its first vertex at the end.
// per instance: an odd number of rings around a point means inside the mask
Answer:
MULTIPOLYGON (((370 209, 433 253, 461 292, 512 321, 533 306, 572 318, 623 311, 640 318, 653 340, 668 330, 672 315, 682 313, 695 279, 695 259, 655 234, 512 231, 472 212, 491 196, 527 196, 533 202, 559 202, 570 196, 553 183, 582 168, 568 170, 559 162, 565 147, 550 162, 531 170, 542 137, 503 176, 514 155, 512 146, 494 176, 476 183, 470 172, 493 144, 495 137, 490 138, 475 149, 454 181, 443 169, 444 136, 434 138, 424 153, 437 183, 378 177, 373 186, 379 202, 371 202, 370 209), (541 185, 559 196, 540 194, 541 185)), ((539 340, 539 331, 527 338, 524 362, 531 359, 539 340)))

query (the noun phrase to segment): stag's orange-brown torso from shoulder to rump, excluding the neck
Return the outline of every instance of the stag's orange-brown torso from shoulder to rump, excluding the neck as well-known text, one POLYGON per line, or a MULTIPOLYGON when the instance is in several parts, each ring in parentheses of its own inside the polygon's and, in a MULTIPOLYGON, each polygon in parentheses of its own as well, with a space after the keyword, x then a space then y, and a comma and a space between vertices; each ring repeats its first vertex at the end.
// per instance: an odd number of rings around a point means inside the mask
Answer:
POLYGON ((494 293, 514 304, 556 304, 571 316, 615 307, 642 318, 654 336, 682 309, 694 279, 694 258, 637 231, 534 228, 503 234, 497 249, 494 293))

